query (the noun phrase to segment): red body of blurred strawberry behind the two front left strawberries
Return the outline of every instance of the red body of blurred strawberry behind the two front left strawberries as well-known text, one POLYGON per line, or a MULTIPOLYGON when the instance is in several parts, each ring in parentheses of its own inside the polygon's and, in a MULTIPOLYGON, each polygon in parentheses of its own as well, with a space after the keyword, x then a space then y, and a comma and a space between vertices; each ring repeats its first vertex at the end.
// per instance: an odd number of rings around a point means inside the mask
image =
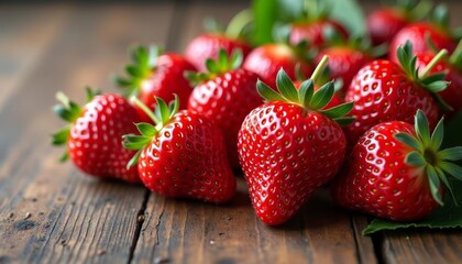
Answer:
MULTIPOLYGON (((180 102, 179 108, 185 109, 193 91, 189 80, 184 76, 186 70, 196 70, 196 67, 182 55, 168 53, 158 56, 153 72, 140 84, 140 100, 153 109, 155 107, 155 96, 170 101, 176 94, 180 102)), ((144 111, 136 109, 143 120, 150 120, 144 111)))

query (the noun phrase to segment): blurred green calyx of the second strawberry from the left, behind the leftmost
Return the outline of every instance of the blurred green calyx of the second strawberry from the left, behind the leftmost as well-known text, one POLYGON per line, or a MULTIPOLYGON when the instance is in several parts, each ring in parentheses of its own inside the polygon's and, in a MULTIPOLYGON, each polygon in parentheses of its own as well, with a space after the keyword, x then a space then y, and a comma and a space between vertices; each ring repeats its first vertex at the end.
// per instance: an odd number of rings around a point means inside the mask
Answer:
POLYGON ((130 98, 140 91, 141 82, 155 70, 157 57, 163 50, 156 45, 148 48, 138 46, 130 52, 132 63, 125 66, 127 77, 116 76, 114 82, 124 90, 124 96, 130 98))

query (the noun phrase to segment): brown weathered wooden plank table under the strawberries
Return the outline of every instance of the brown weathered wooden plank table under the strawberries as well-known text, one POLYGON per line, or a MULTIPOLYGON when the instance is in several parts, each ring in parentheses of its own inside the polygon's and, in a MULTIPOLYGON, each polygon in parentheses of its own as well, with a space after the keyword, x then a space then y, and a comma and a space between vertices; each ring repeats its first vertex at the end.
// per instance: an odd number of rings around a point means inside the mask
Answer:
MULTIPOLYGON (((113 91, 109 75, 130 45, 182 51, 204 16, 226 22, 248 6, 218 2, 0 6, 0 263, 461 263, 460 230, 363 237, 366 217, 337 208, 326 190, 270 228, 242 177, 235 199, 217 207, 57 162, 57 90, 80 101, 86 85, 113 91)), ((462 2, 451 11, 461 25, 462 2)))

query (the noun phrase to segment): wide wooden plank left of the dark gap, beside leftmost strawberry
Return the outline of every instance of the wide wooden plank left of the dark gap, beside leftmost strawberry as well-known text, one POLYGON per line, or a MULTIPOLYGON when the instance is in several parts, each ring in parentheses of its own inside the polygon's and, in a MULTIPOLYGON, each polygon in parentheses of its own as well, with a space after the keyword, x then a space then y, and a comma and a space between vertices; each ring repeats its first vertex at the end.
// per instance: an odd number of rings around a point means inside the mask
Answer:
POLYGON ((47 15, 54 20, 64 9, 68 18, 55 21, 63 28, 50 33, 30 73, 18 74, 24 80, 0 112, 7 142, 0 151, 1 263, 127 263, 146 199, 141 186, 96 180, 58 164, 61 151, 48 146, 47 135, 59 125, 51 106, 56 90, 77 99, 87 84, 112 90, 108 74, 120 70, 128 45, 165 42, 173 8, 56 6, 47 15))

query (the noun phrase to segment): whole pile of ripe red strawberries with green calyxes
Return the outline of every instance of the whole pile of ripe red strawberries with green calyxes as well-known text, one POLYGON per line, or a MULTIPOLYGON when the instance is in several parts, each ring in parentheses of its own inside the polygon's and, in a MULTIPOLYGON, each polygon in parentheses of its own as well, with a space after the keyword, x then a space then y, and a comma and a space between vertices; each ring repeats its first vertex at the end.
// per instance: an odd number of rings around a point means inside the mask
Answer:
POLYGON ((462 146, 440 150, 442 117, 462 109, 462 42, 443 7, 432 21, 415 9, 376 10, 362 38, 322 12, 277 43, 213 32, 185 54, 138 47, 121 95, 87 88, 80 107, 57 94, 69 124, 53 143, 88 175, 166 197, 223 204, 243 173, 272 226, 329 182, 346 209, 425 218, 462 180, 462 146))

